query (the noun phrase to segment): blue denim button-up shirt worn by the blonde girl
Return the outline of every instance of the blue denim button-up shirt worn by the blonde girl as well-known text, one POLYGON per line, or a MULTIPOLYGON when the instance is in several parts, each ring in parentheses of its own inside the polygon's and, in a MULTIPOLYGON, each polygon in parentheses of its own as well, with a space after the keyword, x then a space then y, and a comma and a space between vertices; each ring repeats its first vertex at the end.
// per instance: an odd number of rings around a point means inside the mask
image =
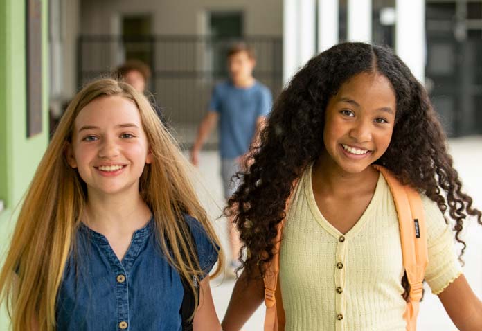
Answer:
MULTIPOLYGON (((201 224, 185 218, 207 274, 216 249, 201 224)), ((183 296, 179 274, 157 245, 153 219, 134 232, 122 262, 104 235, 81 224, 59 289, 57 331, 178 331, 183 296)))

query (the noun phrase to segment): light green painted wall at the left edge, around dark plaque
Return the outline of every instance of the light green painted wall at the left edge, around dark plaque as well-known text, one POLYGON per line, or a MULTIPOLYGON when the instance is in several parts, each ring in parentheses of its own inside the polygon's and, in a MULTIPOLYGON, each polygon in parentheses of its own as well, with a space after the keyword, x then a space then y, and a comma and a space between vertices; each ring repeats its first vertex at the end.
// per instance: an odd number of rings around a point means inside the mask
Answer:
MULTIPOLYGON (((26 1, 0 0, 0 260, 15 226, 14 208, 48 144, 48 0, 42 0, 42 133, 26 134, 26 1)), ((8 330, 0 312, 0 330, 8 330)))

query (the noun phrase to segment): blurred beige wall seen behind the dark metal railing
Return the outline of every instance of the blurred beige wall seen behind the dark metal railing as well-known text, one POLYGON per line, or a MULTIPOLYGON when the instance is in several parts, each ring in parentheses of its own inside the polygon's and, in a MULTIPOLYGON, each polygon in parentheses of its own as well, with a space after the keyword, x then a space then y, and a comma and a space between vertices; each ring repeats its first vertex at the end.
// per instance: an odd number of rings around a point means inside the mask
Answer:
MULTIPOLYGON (((283 35, 283 0, 80 0, 80 3, 82 35, 120 35, 121 18, 136 14, 152 15, 154 35, 208 35, 206 14, 213 11, 243 12, 243 34, 248 37, 268 35, 280 38, 283 35)), ((256 70, 271 70, 273 59, 280 56, 275 48, 258 42, 251 44, 258 52, 256 70)), ((109 71, 124 60, 122 44, 91 45, 98 47, 95 51, 82 53, 85 69, 109 71)), ((150 49, 150 44, 139 44, 139 47, 150 49)), ((168 43, 166 39, 162 42, 158 40, 152 69, 202 75, 203 71, 211 68, 211 57, 207 56, 209 49, 204 42, 183 44, 179 40, 175 43, 168 43)), ((265 84, 271 83, 271 80, 260 80, 265 84)), ((175 124, 199 123, 207 110, 212 84, 210 79, 186 79, 181 75, 175 79, 158 79, 152 92, 158 104, 165 109, 166 116, 175 124)))

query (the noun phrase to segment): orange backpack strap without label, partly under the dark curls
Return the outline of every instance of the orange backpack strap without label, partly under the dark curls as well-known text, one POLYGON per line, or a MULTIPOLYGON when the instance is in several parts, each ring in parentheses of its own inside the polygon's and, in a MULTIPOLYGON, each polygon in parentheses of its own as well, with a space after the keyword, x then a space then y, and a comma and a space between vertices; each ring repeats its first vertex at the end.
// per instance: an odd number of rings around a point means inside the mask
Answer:
POLYGON ((289 204, 292 201, 298 179, 293 182, 292 193, 289 195, 285 205, 285 218, 278 223, 277 234, 274 242, 275 254, 273 260, 269 263, 264 276, 265 281, 265 331, 284 331, 285 330, 285 310, 283 309, 283 300, 281 299, 281 289, 278 281, 280 273, 280 247, 281 238, 283 236, 283 226, 288 213, 289 204))

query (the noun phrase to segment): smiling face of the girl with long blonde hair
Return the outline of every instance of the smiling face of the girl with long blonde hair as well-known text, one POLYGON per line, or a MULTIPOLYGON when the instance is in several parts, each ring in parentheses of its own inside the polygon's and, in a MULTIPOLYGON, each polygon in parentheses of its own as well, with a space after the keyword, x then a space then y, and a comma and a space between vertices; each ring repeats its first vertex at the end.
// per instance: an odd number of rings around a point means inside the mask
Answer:
POLYGON ((69 165, 91 195, 139 194, 139 177, 152 162, 139 109, 122 96, 89 102, 75 118, 69 165))

